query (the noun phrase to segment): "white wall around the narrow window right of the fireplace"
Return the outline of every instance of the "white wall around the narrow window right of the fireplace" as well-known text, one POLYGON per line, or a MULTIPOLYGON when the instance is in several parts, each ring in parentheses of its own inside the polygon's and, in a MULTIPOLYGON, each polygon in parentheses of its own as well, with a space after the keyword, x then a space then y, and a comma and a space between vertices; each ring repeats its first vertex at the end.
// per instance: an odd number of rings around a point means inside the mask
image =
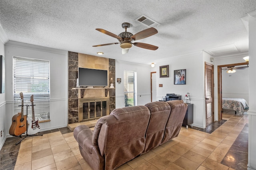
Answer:
POLYGON ((124 105, 124 70, 137 72, 137 105, 151 102, 150 65, 129 63, 116 60, 116 78, 121 78, 120 84, 116 82, 116 108, 124 105))

